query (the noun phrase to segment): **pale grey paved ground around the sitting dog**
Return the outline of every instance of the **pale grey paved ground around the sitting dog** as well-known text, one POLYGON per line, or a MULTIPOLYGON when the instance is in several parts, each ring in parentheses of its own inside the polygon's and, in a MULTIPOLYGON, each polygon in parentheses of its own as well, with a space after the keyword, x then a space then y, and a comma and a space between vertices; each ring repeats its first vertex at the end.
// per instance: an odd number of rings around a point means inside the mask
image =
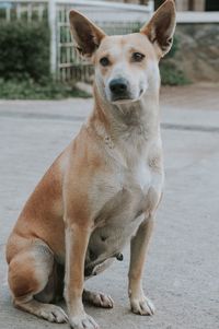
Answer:
MULTIPOLYGON (((68 328, 12 307, 4 244, 30 192, 72 139, 92 99, 0 101, 0 328, 68 328)), ((161 93, 165 193, 145 271, 153 317, 129 312, 125 260, 88 282, 111 294, 112 310, 87 307, 101 328, 219 328, 219 86, 161 93)), ((53 230, 53 228, 51 228, 53 230)))

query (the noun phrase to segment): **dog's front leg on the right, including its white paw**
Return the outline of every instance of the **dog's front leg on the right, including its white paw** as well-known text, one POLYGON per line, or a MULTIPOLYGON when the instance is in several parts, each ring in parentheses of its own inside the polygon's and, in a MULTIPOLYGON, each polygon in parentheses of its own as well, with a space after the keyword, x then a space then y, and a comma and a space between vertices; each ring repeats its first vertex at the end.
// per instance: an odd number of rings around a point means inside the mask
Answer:
POLYGON ((130 267, 129 267, 129 299, 130 307, 135 314, 153 315, 154 307, 145 296, 142 289, 143 265, 150 236, 153 228, 153 218, 147 218, 139 226, 137 234, 131 239, 130 245, 130 267))

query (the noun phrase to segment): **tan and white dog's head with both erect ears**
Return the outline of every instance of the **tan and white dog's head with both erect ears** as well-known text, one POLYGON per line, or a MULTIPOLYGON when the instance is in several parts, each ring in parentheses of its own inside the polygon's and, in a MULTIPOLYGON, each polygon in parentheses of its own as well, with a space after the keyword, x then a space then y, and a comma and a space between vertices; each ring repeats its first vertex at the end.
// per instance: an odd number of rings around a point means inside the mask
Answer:
POLYGON ((160 85, 158 63, 172 46, 175 7, 166 0, 138 33, 107 36, 77 11, 70 11, 70 30, 79 52, 95 66, 95 83, 104 99, 139 99, 160 85))

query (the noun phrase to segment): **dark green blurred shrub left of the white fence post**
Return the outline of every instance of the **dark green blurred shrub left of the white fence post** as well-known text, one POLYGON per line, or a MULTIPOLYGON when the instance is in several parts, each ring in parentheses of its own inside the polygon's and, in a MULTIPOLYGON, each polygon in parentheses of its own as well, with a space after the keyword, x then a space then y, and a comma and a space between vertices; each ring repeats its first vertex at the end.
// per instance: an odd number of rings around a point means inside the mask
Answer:
POLYGON ((46 23, 9 22, 0 24, 0 78, 49 77, 49 28, 46 23))

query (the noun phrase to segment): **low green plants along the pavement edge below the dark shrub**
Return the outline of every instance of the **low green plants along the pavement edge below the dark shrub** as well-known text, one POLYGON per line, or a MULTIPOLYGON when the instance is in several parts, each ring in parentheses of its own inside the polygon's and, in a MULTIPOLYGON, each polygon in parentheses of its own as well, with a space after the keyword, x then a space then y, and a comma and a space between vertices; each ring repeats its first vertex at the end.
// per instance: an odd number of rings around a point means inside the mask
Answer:
POLYGON ((0 98, 4 99, 61 99, 67 97, 90 97, 85 92, 64 83, 46 79, 41 83, 33 80, 0 79, 0 98))

